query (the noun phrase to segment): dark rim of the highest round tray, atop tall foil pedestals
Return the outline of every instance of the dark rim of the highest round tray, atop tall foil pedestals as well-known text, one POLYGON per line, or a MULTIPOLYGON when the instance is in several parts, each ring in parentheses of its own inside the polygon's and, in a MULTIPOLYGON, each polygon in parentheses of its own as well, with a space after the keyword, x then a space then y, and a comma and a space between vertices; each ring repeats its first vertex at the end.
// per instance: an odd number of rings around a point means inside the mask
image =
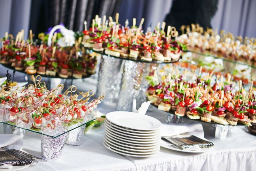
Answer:
POLYGON ((92 52, 98 53, 98 54, 102 54, 102 55, 117 58, 117 59, 131 60, 131 61, 134 61, 134 62, 144 62, 144 63, 150 63, 150 64, 171 64, 171 63, 179 62, 182 59, 182 56, 180 56, 179 60, 171 60, 171 61, 161 62, 161 61, 157 61, 157 60, 152 59, 152 61, 146 61, 146 60, 140 60, 140 58, 129 58, 129 57, 124 57, 124 56, 119 56, 119 57, 118 56, 113 56, 113 55, 110 55, 110 54, 105 54, 103 51, 95 51, 91 48, 86 48, 86 49, 88 49, 92 52))

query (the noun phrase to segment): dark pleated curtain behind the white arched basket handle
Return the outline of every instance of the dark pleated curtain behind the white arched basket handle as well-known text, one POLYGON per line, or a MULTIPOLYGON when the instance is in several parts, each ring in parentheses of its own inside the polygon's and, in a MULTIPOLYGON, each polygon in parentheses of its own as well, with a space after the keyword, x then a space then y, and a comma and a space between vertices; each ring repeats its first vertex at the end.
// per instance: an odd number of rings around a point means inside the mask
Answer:
POLYGON ((122 0, 32 0, 30 28, 37 35, 63 23, 68 29, 82 31, 98 14, 114 16, 122 0))

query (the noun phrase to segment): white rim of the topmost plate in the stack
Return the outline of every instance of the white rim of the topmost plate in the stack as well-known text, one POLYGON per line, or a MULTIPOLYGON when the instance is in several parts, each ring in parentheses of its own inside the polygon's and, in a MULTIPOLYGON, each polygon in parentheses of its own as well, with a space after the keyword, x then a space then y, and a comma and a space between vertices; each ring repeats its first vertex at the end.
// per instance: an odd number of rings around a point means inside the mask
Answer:
MULTIPOLYGON (((158 122, 158 124, 160 124, 160 126, 157 127, 157 128, 149 128, 149 129, 145 128, 145 129, 142 129, 142 131, 158 130, 158 129, 160 129, 160 128, 162 127, 162 123, 161 123, 159 120, 157 120, 156 118, 153 118, 153 117, 151 117, 151 116, 148 116, 148 115, 143 115, 143 114, 140 114, 140 113, 134 113, 134 112, 128 112, 128 111, 114 111, 114 112, 107 113, 107 115, 106 115, 107 120, 109 120, 110 122, 112 122, 112 123, 114 123, 114 124, 116 124, 116 125, 119 125, 119 126, 122 126, 122 125, 113 122, 113 119, 112 119, 112 121, 111 121, 111 116, 112 116, 112 115, 114 115, 115 117, 119 117, 120 115, 128 115, 128 116, 137 115, 136 117, 139 116, 139 117, 150 118, 151 120, 154 120, 155 122, 158 122), (118 114, 115 114, 115 113, 118 113, 118 114), (122 114, 122 113, 123 113, 123 114, 122 114), (130 113, 130 114, 128 115, 128 113, 130 113), (109 117, 110 117, 110 119, 109 119, 109 117)), ((113 117, 113 116, 112 116, 112 117, 113 117)), ((136 128, 132 128, 132 127, 129 127, 129 126, 122 126, 122 127, 130 128, 130 129, 133 129, 133 130, 138 130, 138 129, 136 129, 136 128)))

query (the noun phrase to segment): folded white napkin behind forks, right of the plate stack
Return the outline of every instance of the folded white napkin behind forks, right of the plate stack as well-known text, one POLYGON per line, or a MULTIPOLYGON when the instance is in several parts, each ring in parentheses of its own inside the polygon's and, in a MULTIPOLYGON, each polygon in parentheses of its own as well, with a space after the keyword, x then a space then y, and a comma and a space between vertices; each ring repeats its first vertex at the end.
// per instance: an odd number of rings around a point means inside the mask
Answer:
POLYGON ((188 133, 203 138, 203 126, 200 123, 191 122, 186 124, 162 124, 161 136, 172 136, 181 133, 188 133))

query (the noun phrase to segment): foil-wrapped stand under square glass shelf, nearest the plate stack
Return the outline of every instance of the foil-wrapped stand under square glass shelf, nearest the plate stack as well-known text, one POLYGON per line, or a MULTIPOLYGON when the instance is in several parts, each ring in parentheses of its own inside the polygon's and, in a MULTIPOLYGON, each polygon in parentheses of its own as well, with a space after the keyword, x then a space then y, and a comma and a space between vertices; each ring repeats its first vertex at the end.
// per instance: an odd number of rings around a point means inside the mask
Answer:
MULTIPOLYGON (((80 126, 68 133, 67 134, 67 138, 65 143, 68 145, 81 145, 82 140, 83 140, 83 135, 84 135, 84 131, 85 131, 85 125, 80 126)), ((77 127, 77 125, 73 125, 72 127, 77 127)), ((72 129, 72 128, 70 128, 72 129)))

